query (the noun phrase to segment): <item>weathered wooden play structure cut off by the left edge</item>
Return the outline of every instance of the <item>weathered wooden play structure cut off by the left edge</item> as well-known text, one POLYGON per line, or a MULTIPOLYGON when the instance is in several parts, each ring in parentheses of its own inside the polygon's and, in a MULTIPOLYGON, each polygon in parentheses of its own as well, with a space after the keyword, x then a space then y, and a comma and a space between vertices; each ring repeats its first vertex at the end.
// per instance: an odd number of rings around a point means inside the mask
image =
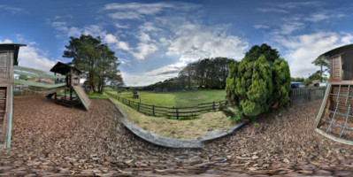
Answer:
POLYGON ((0 44, 0 146, 10 148, 12 135, 13 65, 18 65, 19 43, 0 44))

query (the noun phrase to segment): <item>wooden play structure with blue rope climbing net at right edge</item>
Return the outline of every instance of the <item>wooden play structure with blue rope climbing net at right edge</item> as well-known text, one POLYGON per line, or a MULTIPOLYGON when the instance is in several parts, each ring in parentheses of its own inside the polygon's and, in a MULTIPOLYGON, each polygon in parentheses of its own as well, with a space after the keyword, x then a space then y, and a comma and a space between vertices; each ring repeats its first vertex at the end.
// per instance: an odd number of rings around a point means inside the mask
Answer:
POLYGON ((316 131, 337 142, 353 145, 353 44, 323 54, 330 80, 315 119, 316 131))

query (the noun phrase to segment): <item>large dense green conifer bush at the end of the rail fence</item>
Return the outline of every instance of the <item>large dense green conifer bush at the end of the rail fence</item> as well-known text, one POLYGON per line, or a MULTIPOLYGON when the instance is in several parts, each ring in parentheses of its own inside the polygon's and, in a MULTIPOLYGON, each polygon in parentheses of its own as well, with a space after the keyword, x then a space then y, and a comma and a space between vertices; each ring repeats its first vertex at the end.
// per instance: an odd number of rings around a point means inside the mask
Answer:
POLYGON ((274 104, 287 104, 289 89, 288 63, 266 44, 252 47, 241 63, 229 65, 226 94, 246 116, 257 116, 274 104))

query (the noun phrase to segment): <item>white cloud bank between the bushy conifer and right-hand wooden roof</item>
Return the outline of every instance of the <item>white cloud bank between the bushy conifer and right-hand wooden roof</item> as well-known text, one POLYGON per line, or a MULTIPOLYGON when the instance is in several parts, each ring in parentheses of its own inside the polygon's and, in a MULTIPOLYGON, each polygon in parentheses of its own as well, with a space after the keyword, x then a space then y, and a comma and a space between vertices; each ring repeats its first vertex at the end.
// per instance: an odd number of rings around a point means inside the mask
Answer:
POLYGON ((277 41, 288 48, 284 58, 288 60, 292 77, 307 77, 318 67, 311 62, 328 50, 353 42, 353 35, 318 32, 309 35, 278 37, 277 41))

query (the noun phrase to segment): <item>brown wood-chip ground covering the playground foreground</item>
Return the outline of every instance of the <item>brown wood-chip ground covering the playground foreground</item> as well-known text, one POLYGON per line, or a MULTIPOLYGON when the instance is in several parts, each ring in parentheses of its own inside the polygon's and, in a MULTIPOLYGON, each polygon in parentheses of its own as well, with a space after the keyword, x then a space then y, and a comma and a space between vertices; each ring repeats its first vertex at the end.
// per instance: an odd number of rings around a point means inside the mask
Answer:
MULTIPOLYGON (((89 112, 43 96, 14 99, 12 149, 1 175, 239 176, 353 175, 353 148, 313 130, 320 102, 264 114, 203 150, 154 146, 119 124, 119 112, 92 99, 89 112), (226 158, 226 162, 224 159, 226 158)), ((0 176, 1 176, 0 175, 0 176)))

